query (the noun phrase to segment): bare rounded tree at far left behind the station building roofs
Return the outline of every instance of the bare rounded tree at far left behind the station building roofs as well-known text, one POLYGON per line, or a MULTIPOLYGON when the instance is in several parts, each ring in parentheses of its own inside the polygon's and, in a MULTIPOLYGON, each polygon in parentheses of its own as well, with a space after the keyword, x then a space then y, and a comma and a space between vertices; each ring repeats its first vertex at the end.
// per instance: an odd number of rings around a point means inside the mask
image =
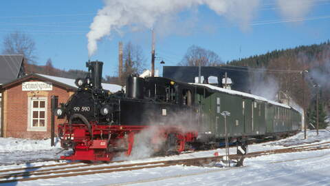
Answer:
POLYGON ((31 37, 22 32, 13 32, 3 39, 2 54, 23 54, 27 63, 35 63, 36 45, 31 37))

